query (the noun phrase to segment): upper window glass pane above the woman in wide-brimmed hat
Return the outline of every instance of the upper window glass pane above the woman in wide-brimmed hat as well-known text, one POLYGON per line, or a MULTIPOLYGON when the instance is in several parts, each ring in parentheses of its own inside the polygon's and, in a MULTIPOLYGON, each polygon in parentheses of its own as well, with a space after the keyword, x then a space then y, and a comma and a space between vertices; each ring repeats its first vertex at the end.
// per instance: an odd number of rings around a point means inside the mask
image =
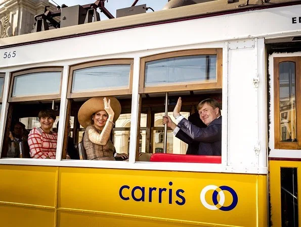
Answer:
POLYGON ((128 87, 131 65, 107 65, 75 70, 72 93, 128 87))

